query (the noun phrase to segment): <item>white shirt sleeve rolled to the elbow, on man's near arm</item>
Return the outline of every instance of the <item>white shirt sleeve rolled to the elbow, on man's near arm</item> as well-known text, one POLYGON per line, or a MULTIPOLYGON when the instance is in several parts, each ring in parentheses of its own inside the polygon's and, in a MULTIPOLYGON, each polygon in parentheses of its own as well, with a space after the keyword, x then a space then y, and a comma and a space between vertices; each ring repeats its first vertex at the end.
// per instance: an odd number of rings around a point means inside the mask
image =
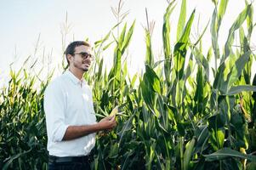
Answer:
POLYGON ((48 140, 60 142, 68 125, 65 124, 65 96, 58 82, 52 83, 46 88, 43 107, 48 140))

